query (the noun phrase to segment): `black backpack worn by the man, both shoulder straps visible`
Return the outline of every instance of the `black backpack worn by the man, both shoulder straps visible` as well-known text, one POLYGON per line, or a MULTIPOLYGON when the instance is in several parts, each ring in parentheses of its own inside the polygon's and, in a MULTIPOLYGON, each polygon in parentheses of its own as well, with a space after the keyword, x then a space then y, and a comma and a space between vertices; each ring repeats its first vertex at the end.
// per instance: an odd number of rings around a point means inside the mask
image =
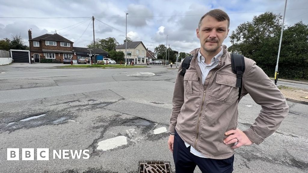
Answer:
MULTIPOLYGON (((190 66, 190 62, 192 61, 193 56, 188 56, 184 58, 182 63, 182 71, 181 75, 184 76, 186 70, 190 66)), ((241 92, 242 92, 242 77, 243 73, 245 71, 245 60, 244 56, 240 54, 231 54, 231 65, 232 65, 232 71, 234 74, 236 74, 236 87, 239 88, 238 90, 238 100, 240 100, 241 92)))

